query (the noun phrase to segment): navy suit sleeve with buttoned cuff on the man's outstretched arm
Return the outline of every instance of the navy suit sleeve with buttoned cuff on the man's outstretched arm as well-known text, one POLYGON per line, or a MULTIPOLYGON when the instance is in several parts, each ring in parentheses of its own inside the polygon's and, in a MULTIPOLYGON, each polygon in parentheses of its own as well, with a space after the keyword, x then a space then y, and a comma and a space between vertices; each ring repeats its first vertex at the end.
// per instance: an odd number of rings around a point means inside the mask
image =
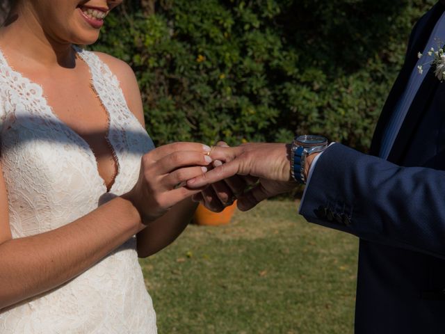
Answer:
POLYGON ((445 258, 445 171, 401 167, 341 144, 323 152, 305 191, 307 221, 445 258))

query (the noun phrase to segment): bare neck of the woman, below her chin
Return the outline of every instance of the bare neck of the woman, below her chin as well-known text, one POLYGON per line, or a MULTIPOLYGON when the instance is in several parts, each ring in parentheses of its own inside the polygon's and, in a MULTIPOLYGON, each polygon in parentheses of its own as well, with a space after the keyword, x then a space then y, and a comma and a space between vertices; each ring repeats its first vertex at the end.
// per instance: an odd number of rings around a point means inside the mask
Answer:
POLYGON ((7 48, 17 61, 45 67, 74 66, 72 44, 51 38, 38 19, 26 10, 10 13, 0 29, 0 48, 7 48))

